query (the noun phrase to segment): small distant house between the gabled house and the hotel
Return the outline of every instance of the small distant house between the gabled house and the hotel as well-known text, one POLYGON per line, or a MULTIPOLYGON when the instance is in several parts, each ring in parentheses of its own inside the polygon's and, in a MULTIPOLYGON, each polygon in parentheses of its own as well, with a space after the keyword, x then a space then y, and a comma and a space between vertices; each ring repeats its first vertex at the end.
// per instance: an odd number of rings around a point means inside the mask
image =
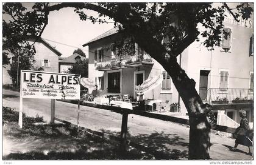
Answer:
POLYGON ((82 55, 79 55, 77 53, 74 53, 71 56, 68 56, 67 58, 63 58, 59 61, 59 70, 60 73, 66 72, 70 67, 76 63, 77 60, 84 61, 85 57, 82 55))

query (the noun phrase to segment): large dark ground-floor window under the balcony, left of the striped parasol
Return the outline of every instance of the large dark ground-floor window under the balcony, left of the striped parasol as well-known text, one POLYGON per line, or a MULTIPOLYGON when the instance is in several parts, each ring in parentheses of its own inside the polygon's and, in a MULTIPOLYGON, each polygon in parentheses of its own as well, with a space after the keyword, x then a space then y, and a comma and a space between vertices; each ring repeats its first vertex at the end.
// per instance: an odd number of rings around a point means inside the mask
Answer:
POLYGON ((107 92, 120 93, 121 72, 107 73, 107 92))

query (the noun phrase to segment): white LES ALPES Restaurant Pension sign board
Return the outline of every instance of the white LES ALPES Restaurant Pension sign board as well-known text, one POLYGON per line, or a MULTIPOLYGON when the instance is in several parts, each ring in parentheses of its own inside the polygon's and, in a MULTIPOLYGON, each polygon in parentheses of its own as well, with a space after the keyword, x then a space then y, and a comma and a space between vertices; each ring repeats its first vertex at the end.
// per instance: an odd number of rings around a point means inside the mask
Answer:
POLYGON ((80 99, 80 76, 21 70, 21 97, 80 99))

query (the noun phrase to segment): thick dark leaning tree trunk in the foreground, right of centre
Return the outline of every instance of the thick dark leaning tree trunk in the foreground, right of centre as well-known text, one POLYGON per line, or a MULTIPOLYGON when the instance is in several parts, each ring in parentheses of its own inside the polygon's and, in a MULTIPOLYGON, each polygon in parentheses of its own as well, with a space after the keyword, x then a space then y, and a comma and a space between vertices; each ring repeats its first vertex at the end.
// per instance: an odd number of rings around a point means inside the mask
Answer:
POLYGON ((202 103, 198 95, 193 79, 188 78, 177 62, 172 64, 168 73, 172 73, 172 81, 181 96, 190 118, 190 143, 188 148, 188 159, 209 159, 210 129, 211 125, 207 113, 211 110, 210 105, 202 103))

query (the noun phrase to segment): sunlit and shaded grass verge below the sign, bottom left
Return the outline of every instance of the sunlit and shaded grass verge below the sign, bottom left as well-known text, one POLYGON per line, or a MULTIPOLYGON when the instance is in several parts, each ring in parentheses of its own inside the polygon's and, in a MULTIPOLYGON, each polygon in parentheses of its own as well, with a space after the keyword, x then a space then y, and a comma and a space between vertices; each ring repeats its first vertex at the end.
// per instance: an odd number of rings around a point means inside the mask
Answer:
POLYGON ((43 118, 3 107, 3 160, 154 160, 151 154, 129 147, 120 152, 117 141, 108 141, 62 123, 47 124, 43 118))

